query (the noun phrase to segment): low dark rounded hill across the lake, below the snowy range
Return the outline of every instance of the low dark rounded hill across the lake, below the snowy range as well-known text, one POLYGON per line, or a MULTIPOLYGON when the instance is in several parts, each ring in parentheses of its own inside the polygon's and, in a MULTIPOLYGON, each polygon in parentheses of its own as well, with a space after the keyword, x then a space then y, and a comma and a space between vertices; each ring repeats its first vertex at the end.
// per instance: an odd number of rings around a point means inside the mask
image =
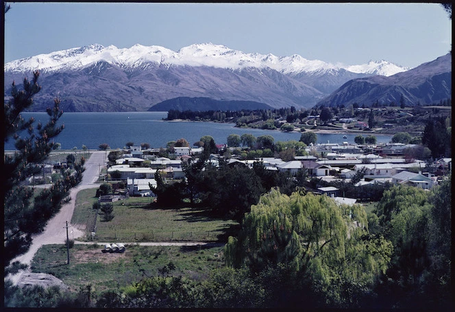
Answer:
POLYGON ((150 112, 168 110, 267 110, 272 107, 256 101, 222 101, 210 97, 175 97, 167 99, 149 108, 150 112))

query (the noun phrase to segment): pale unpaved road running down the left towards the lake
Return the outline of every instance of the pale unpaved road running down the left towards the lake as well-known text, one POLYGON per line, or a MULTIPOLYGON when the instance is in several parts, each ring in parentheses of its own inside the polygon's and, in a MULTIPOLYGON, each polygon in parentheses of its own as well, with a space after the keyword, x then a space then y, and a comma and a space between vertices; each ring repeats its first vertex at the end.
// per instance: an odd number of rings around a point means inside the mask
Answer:
MULTIPOLYGON (((70 222, 71 217, 73 216, 77 192, 82 189, 91 189, 98 187, 96 181, 99 177, 99 170, 106 163, 106 155, 106 152, 99 151, 93 152, 91 154, 90 158, 86 160, 86 163, 84 165, 86 169, 84 171, 84 176, 82 177, 82 182, 70 191, 71 201, 68 204, 64 204, 58 214, 49 220, 45 230, 42 233, 33 237, 32 246, 30 246, 29 250, 25 254, 21 254, 21 256, 13 259, 11 262, 19 261, 21 263, 30 265, 34 255, 42 245, 51 243, 64 243, 66 239, 66 221, 68 221, 69 226, 71 226, 70 222)), ((73 238, 73 235, 74 238, 84 235, 84 232, 77 229, 75 226, 71 226, 69 228, 69 232, 71 232, 71 230, 73 231, 70 234, 71 238, 73 238)), ((21 271, 14 276, 10 276, 14 285, 17 285, 22 274, 23 272, 21 271)))

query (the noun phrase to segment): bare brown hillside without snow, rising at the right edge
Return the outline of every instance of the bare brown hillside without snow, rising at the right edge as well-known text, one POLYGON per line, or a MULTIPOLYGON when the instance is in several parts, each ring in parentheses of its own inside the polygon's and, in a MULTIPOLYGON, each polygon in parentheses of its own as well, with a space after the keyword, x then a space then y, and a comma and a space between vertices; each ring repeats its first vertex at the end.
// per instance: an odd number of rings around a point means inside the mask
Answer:
POLYGON ((452 55, 447 53, 423 63, 415 69, 389 77, 373 76, 350 80, 334 91, 317 106, 360 104, 371 106, 400 105, 403 97, 406 106, 429 105, 452 98, 452 55))

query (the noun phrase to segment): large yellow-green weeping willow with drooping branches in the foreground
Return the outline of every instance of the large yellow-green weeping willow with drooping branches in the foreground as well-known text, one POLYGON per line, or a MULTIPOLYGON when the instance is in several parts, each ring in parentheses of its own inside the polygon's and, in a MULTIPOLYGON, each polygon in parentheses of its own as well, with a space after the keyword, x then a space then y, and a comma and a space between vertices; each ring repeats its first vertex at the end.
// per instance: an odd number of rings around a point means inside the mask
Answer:
POLYGON ((352 307, 391 259, 391 243, 369 235, 367 224, 360 205, 338 206, 325 195, 288 196, 273 189, 251 206, 238 237, 229 238, 227 265, 256 274, 286 265, 292 283, 306 285, 325 304, 352 307))

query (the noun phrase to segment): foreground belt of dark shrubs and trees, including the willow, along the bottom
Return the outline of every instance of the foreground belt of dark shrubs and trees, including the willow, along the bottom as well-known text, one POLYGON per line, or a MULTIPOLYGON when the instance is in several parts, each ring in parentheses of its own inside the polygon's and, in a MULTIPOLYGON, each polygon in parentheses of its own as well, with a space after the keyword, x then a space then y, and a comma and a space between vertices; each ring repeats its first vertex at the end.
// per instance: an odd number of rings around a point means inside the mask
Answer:
POLYGON ((271 189, 228 239, 225 264, 205 278, 177 274, 183 264, 170 261, 154 276, 101 293, 93 284, 62 293, 6 283, 5 304, 449 311, 450 219, 450 177, 432 191, 392 187, 369 213, 325 195, 271 189))

